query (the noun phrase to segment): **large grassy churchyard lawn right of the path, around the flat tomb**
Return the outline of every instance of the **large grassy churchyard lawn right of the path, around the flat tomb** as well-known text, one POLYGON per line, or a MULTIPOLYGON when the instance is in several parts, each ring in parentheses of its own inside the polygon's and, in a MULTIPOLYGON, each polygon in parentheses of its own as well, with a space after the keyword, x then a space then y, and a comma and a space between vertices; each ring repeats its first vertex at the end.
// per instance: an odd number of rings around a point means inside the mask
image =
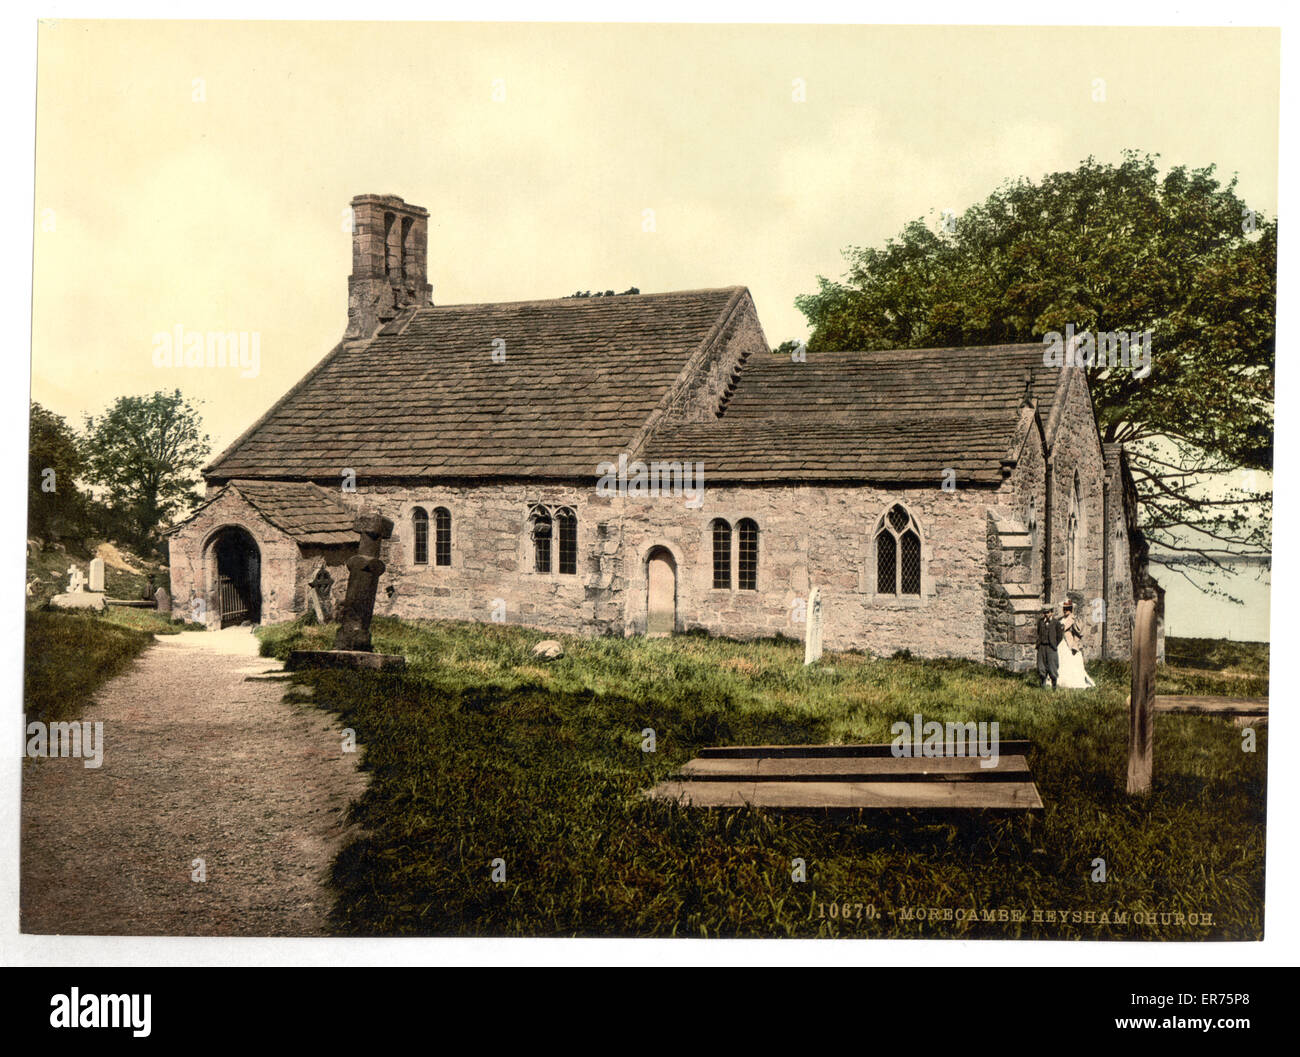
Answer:
MULTIPOLYGON (((333 632, 298 621, 259 634, 264 653, 285 657, 329 646, 333 632)), ((337 932, 1262 935, 1266 729, 1247 753, 1227 720, 1160 716, 1154 792, 1130 798, 1126 666, 1092 664, 1096 690, 1052 694, 959 660, 827 654, 805 668, 802 645, 784 640, 564 638, 566 655, 542 663, 529 649, 546 637, 377 620, 376 649, 406 654, 404 673, 296 676, 315 686, 311 703, 355 729, 370 772, 352 809, 365 832, 334 863, 337 932), (641 798, 705 745, 889 741, 890 723, 915 712, 997 720, 1002 738, 1032 740, 1041 816, 702 811, 641 798), (655 731, 653 754, 644 728, 655 731), (504 883, 490 879, 498 858, 504 883), (796 858, 805 883, 792 880, 796 858), (1091 879, 1097 858, 1104 883, 1091 879), (849 918, 832 918, 844 904, 849 918), (1139 924, 1145 913, 1169 917, 1139 924)), ((1161 693, 1268 693, 1266 646, 1248 671, 1216 671, 1195 646, 1178 657, 1161 693)), ((294 689, 290 699, 308 701, 294 689)))

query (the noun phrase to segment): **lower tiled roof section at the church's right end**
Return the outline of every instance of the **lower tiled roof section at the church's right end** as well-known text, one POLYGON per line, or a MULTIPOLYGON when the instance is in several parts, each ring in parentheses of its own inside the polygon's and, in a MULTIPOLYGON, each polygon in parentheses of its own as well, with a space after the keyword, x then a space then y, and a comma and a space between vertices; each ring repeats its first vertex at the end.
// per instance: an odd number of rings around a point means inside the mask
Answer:
POLYGON ((997 484, 1026 397, 1061 381, 1043 345, 755 356, 722 419, 660 432, 642 460, 703 463, 705 480, 997 484))

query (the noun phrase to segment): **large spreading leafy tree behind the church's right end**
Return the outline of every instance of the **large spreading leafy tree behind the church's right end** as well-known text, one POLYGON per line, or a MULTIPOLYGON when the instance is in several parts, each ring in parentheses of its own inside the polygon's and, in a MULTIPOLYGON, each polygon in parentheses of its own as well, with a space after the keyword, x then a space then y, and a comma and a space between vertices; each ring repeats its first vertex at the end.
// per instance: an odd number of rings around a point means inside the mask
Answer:
POLYGON ((842 281, 796 299, 809 351, 1037 342, 1150 330, 1150 373, 1089 368, 1104 439, 1124 443, 1141 529, 1164 550, 1268 553, 1277 220, 1214 166, 1127 151, 1004 183, 935 229, 845 251, 842 281), (1214 475, 1231 473, 1231 478, 1214 475))

